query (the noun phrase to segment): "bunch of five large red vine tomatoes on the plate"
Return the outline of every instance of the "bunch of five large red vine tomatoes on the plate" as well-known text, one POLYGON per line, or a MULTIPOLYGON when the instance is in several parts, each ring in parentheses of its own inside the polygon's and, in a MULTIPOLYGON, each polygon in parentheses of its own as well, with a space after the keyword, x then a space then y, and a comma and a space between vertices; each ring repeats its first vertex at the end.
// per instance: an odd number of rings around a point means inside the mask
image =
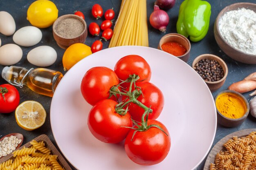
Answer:
POLYGON ((155 120, 164 107, 164 95, 150 78, 146 60, 127 55, 117 61, 114 71, 90 68, 81 82, 81 93, 93 106, 88 115, 92 135, 111 144, 125 139, 126 154, 140 165, 163 161, 171 147, 167 128, 155 120))

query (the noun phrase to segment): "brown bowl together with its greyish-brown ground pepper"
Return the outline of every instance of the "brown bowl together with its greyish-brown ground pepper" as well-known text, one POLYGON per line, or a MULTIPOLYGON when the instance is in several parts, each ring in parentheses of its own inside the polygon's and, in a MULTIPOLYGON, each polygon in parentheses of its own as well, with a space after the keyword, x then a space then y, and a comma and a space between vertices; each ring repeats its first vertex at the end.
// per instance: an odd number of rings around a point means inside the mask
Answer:
POLYGON ((75 43, 84 43, 87 38, 87 25, 83 18, 74 14, 62 15, 55 20, 53 37, 58 46, 67 49, 75 43))

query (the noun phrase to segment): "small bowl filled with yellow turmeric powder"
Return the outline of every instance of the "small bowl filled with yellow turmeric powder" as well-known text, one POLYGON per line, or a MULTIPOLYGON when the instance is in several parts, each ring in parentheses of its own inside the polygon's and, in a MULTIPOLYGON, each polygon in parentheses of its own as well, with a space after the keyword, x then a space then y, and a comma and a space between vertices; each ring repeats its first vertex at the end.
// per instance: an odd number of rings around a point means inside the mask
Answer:
POLYGON ((214 99, 217 110, 217 121, 222 126, 236 127, 241 125, 249 114, 249 103, 236 91, 222 91, 214 99))

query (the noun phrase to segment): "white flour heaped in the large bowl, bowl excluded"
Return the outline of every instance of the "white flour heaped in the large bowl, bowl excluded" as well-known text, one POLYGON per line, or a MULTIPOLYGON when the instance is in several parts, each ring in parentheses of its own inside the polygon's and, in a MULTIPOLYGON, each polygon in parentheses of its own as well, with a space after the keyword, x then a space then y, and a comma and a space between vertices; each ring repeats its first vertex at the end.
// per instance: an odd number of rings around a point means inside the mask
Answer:
POLYGON ((240 51, 256 55, 256 13, 238 9, 225 13, 219 20, 219 30, 225 41, 240 51))

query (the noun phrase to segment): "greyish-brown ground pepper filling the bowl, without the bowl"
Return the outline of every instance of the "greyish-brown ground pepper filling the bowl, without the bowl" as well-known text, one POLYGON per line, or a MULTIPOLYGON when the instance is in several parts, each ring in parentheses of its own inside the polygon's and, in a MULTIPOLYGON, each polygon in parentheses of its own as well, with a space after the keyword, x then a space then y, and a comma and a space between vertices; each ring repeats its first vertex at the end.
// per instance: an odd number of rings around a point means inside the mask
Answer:
POLYGON ((85 25, 76 18, 65 18, 55 26, 55 31, 63 38, 75 38, 83 33, 85 25))

